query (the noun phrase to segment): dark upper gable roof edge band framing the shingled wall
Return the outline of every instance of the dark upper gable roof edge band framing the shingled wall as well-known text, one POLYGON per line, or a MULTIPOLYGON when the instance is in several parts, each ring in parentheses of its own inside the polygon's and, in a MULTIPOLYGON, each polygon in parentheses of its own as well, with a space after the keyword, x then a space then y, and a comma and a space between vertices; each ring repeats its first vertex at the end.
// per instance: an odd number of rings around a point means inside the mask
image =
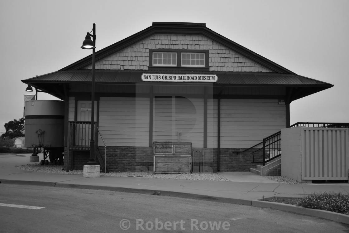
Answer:
MULTIPOLYGON (((202 35, 221 44, 232 51, 239 53, 240 55, 254 61, 255 63, 268 68, 276 73, 295 74, 294 72, 270 61, 269 59, 260 56, 259 54, 239 45, 230 39, 212 31, 206 27, 205 23, 183 23, 183 22, 153 22, 153 25, 137 32, 136 34, 129 36, 115 44, 107 46, 104 49, 96 51, 96 61, 101 60, 111 54, 114 54, 122 49, 127 48, 151 35, 155 34, 190 34, 190 35, 202 35)), ((98 45, 97 45, 98 46, 98 45)), ((76 61, 75 63, 62 68, 60 71, 66 70, 79 70, 91 64, 92 54, 76 61)))

